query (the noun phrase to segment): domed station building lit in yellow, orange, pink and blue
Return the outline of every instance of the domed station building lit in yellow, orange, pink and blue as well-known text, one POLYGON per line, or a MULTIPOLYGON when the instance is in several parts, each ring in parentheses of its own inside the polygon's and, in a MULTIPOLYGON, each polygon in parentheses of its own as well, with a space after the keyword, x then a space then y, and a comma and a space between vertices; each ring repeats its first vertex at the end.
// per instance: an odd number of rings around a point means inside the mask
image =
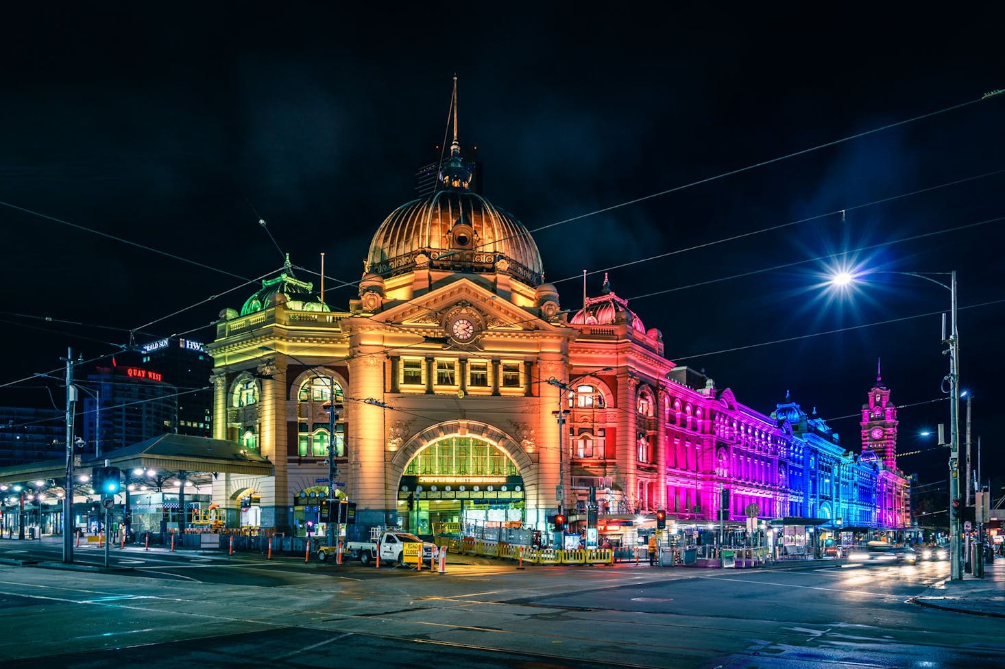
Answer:
POLYGON ((213 436, 274 465, 214 480, 229 526, 303 534, 318 521, 333 391, 335 484, 357 503, 350 537, 375 525, 547 534, 560 507, 577 531, 595 510, 601 536, 658 509, 671 526, 706 528, 724 488, 736 524, 751 512, 804 529, 910 524, 887 389, 863 411, 876 458, 846 452, 794 403, 761 414, 669 360, 606 277, 563 308, 527 228, 468 180, 455 137, 438 188, 377 228, 348 308, 287 258, 221 312, 206 346, 213 436))

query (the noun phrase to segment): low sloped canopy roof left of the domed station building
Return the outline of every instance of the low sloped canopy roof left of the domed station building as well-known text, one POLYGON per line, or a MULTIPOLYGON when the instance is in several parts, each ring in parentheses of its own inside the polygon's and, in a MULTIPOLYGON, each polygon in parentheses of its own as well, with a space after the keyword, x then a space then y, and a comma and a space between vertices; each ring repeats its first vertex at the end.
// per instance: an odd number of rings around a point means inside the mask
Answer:
MULTIPOLYGON (((225 439, 209 439, 182 434, 165 434, 102 457, 82 456, 74 466, 79 472, 92 467, 119 467, 132 469, 158 469, 166 471, 206 472, 220 474, 251 474, 271 476, 274 465, 255 451, 225 439)), ((56 479, 66 476, 66 460, 58 458, 0 468, 0 483, 20 483, 35 479, 56 479)))

